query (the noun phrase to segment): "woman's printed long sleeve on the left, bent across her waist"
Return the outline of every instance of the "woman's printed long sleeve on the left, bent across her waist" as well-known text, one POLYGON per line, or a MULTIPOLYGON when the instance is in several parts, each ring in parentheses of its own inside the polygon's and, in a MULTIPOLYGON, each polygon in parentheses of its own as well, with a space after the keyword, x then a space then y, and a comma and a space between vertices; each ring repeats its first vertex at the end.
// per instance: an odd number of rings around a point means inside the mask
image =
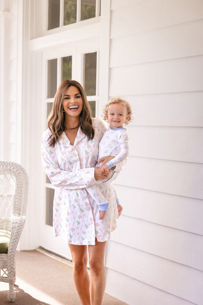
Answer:
POLYGON ((71 171, 61 170, 55 148, 47 142, 47 132, 42 136, 41 158, 45 173, 54 186, 69 190, 82 189, 96 183, 94 167, 71 171))

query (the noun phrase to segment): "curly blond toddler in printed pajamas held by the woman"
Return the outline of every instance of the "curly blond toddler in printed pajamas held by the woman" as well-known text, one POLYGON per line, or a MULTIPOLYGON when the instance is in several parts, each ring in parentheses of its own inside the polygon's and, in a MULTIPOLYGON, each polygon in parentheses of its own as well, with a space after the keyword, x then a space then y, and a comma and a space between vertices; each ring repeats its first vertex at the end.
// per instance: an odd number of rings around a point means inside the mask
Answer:
MULTIPOLYGON (((132 120, 132 110, 129 103, 120 97, 110 99, 105 105, 103 113, 103 119, 108 121, 109 128, 104 132, 102 140, 99 143, 99 163, 97 166, 101 166, 102 172, 109 173, 109 175, 107 180, 98 181, 100 186, 101 183, 108 181, 109 179, 115 180, 118 173, 113 171, 109 172, 109 170, 124 161, 128 156, 128 136, 123 125, 127 125, 132 120)), ((90 186, 86 188, 86 190, 99 204, 100 219, 102 219, 109 203, 101 194, 97 185, 90 186)), ((122 206, 119 203, 115 190, 114 192, 118 206, 118 214, 120 216, 122 213, 122 206)))

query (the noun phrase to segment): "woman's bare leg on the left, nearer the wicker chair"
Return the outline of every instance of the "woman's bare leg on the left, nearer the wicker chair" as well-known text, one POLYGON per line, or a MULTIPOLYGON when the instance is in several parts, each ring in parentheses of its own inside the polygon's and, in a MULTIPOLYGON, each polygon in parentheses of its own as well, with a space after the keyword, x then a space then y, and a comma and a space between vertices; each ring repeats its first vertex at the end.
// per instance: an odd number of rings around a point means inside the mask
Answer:
POLYGON ((82 305, 90 305, 87 246, 69 244, 73 260, 73 279, 82 305))

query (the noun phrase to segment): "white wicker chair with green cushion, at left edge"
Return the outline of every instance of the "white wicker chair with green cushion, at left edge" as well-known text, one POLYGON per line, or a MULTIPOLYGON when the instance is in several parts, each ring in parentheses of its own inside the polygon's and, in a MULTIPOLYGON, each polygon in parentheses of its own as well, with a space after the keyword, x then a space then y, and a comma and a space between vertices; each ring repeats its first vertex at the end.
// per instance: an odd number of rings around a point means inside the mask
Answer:
POLYGON ((25 222, 27 196, 28 176, 23 167, 0 161, 0 281, 9 283, 9 302, 16 297, 15 252, 25 222))

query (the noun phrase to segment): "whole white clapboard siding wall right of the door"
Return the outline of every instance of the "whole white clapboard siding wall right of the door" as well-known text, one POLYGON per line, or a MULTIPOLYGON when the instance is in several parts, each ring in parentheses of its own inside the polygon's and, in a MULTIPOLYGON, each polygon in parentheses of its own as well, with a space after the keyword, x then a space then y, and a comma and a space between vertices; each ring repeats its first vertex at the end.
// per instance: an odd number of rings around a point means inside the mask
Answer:
POLYGON ((203 1, 112 0, 109 95, 132 105, 106 292, 203 304, 203 1))

